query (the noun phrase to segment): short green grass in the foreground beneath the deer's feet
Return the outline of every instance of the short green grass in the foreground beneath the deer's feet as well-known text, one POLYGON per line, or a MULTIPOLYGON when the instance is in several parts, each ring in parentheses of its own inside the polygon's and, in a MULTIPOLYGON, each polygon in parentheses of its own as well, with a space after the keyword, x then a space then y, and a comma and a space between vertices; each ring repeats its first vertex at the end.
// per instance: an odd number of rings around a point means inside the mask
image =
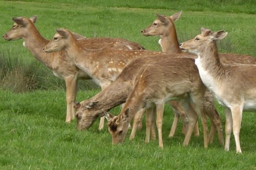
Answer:
MULTIPOLYGON (((78 99, 90 98, 96 92, 80 93, 78 99)), ((63 90, 19 94, 0 91, 0 99, 1 169, 255 169, 256 166, 253 113, 244 114, 241 129, 244 153, 236 155, 233 137, 230 152, 224 152, 217 136, 204 149, 202 133, 198 138, 193 136, 188 147, 182 147, 181 123, 175 137, 169 139, 173 114, 168 106, 164 114, 162 150, 157 140, 144 143, 145 127, 134 140, 126 137, 122 145, 112 145, 106 128, 102 132, 97 130, 98 121, 89 131, 76 131, 75 121, 64 122, 63 90)), ((119 110, 112 112, 117 114, 119 110)))

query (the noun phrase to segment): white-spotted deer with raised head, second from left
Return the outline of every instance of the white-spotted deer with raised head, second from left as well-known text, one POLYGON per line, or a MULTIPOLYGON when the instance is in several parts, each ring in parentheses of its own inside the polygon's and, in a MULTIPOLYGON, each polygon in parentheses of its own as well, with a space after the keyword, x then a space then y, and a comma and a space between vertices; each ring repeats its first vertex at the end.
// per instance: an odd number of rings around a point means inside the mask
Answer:
MULTIPOLYGON (((123 50, 105 47, 90 50, 82 46, 67 29, 56 29, 53 39, 44 47, 46 53, 65 50, 66 55, 75 65, 86 72, 104 89, 120 74, 124 66, 136 57, 164 54, 145 50, 123 50)), ((104 125, 104 117, 100 120, 99 129, 104 125)))

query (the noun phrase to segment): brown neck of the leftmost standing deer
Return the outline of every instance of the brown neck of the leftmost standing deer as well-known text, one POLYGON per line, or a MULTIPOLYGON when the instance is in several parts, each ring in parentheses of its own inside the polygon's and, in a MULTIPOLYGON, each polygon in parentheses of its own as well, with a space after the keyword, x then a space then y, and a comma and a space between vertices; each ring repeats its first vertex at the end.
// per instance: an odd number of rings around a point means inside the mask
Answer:
POLYGON ((28 34, 23 37, 26 48, 33 54, 33 56, 51 68, 51 61, 49 54, 42 51, 42 48, 49 42, 49 40, 43 38, 39 31, 34 27, 30 29, 28 34))

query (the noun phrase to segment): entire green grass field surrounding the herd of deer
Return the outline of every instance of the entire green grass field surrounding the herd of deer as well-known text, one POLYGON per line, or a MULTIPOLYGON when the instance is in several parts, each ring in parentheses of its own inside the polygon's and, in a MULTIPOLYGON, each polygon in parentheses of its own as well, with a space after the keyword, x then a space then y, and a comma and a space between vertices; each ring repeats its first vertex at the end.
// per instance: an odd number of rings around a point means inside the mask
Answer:
MULTIPOLYGON (((0 35, 12 27, 11 17, 37 15, 35 25, 48 39, 56 28, 67 28, 87 37, 122 37, 155 51, 160 51, 159 37, 143 37, 140 31, 156 13, 172 15, 182 10, 175 22, 180 42, 199 34, 201 27, 225 29, 228 36, 219 43, 221 52, 256 56, 255 1, 0 1, 0 10, 0 35)), ((230 152, 224 152, 217 135, 204 149, 201 124, 200 137, 193 136, 188 147, 182 147, 181 123, 169 139, 173 113, 168 106, 163 150, 157 140, 144 143, 145 127, 121 145, 111 144, 106 126, 98 131, 98 121, 88 131, 77 131, 75 120, 65 123, 63 80, 36 61, 22 42, 0 40, 0 169, 256 169, 252 112, 243 114, 242 155, 236 154, 233 136, 230 152)), ((81 81, 78 101, 96 94, 95 87, 81 81)), ((218 104, 217 108, 224 128, 223 108, 218 104)), ((117 107, 111 112, 119 111, 117 107)))

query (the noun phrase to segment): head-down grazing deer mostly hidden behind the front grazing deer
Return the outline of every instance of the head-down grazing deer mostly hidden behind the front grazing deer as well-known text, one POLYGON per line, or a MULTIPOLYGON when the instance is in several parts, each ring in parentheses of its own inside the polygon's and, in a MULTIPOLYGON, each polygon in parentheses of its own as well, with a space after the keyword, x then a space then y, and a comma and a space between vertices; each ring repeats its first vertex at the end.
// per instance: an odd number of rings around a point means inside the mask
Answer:
MULTIPOLYGON (((170 54, 170 55, 162 55, 162 56, 149 56, 146 58, 144 57, 136 58, 133 61, 131 61, 129 64, 127 64, 126 67, 124 67, 121 74, 116 78, 116 80, 112 82, 107 88, 100 91, 92 98, 76 104, 77 129, 83 130, 83 129, 90 128, 97 117, 104 115, 104 111, 109 111, 111 108, 114 108, 124 103, 134 87, 134 80, 136 75, 138 75, 140 68, 148 64, 154 64, 154 63, 161 64, 166 60, 167 60, 166 62, 169 63, 172 60, 174 60, 175 57, 184 58, 185 55, 170 54)), ((188 60, 193 60, 193 59, 188 58, 188 60)), ((183 68, 183 66, 181 67, 183 68)), ((198 72, 194 76, 199 77, 198 72)), ((206 125, 206 123, 204 123, 203 125, 206 125)), ((189 135, 186 136, 183 144, 187 145, 189 142, 189 139, 190 139, 190 136, 189 135)), ((207 141, 205 142, 207 143, 207 141)))

